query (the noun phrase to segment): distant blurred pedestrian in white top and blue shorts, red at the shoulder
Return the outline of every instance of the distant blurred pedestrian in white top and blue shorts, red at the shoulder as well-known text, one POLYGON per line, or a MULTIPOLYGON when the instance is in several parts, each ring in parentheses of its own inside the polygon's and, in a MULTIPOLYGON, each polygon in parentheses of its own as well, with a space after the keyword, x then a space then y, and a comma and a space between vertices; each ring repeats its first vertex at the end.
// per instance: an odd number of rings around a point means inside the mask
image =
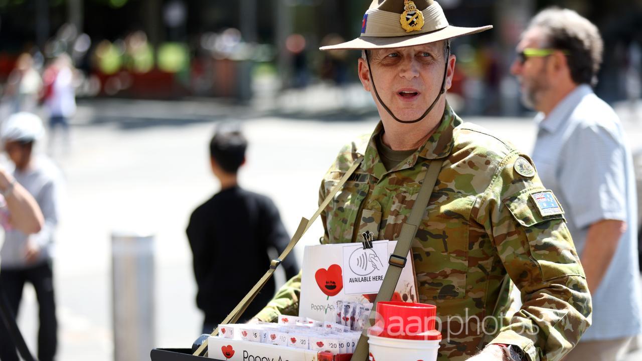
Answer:
POLYGON ((53 154, 55 137, 60 128, 62 131, 62 147, 69 151, 69 119, 76 113, 76 92, 74 89, 74 67, 71 58, 66 53, 58 55, 51 65, 45 69, 44 104, 49 111, 49 154, 53 154))

